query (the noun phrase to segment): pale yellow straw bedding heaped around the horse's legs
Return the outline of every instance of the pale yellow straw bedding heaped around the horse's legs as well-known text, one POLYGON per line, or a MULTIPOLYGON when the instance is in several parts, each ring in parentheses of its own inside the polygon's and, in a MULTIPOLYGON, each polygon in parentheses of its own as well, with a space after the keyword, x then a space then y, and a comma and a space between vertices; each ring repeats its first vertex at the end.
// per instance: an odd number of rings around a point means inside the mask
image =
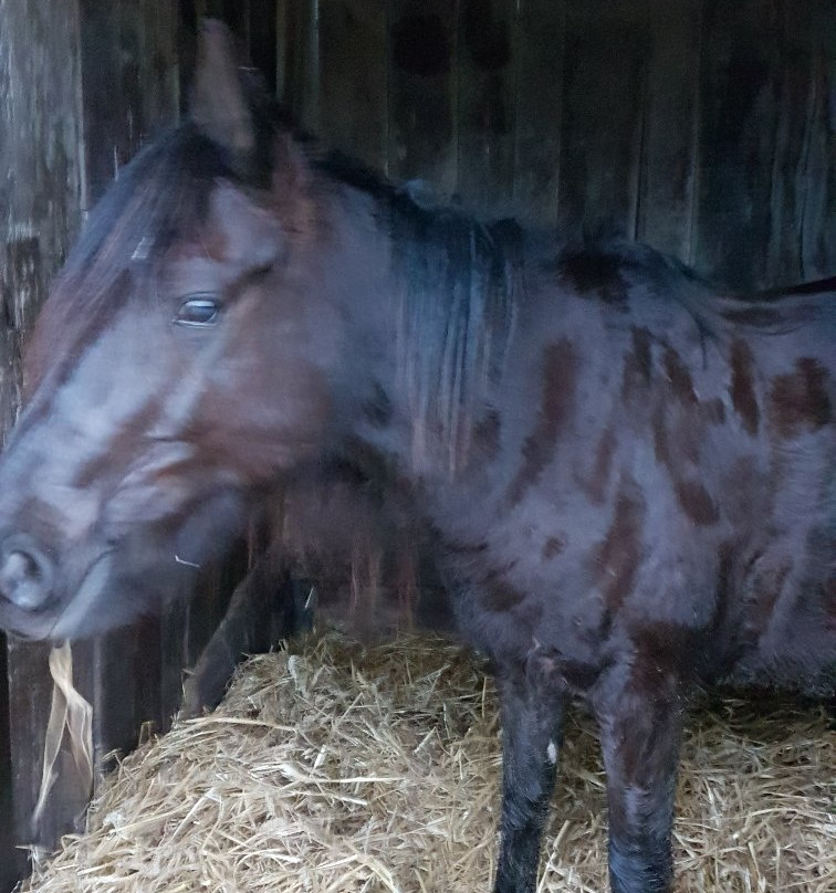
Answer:
MULTIPOLYGON (((677 891, 836 889, 836 732, 823 708, 699 711, 683 748, 677 891)), ((606 890, 592 722, 567 729, 539 891, 606 890)), ((258 656, 218 708, 104 782, 86 834, 36 866, 59 893, 484 893, 497 843, 497 703, 439 639, 335 632, 258 656)))

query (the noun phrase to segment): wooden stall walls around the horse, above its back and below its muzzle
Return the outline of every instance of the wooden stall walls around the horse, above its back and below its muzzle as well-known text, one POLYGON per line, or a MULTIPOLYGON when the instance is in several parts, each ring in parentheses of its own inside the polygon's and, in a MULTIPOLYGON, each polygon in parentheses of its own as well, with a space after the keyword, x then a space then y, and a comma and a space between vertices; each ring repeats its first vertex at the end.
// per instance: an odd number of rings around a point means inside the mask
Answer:
MULTIPOLYGON (((421 201, 640 239, 732 288, 833 275, 832 3, 670 6, 6 0, 4 430, 49 280, 119 166, 180 114, 203 14, 232 25, 301 127, 412 181, 421 201)), ((191 605, 74 649, 97 765, 145 724, 167 726, 182 669, 250 560, 242 545, 191 605)), ((76 826, 87 791, 60 771, 30 827, 52 680, 43 648, 9 642, 4 656, 0 845, 11 853, 15 841, 49 848, 76 826)), ((72 759, 64 749, 59 768, 72 759)))

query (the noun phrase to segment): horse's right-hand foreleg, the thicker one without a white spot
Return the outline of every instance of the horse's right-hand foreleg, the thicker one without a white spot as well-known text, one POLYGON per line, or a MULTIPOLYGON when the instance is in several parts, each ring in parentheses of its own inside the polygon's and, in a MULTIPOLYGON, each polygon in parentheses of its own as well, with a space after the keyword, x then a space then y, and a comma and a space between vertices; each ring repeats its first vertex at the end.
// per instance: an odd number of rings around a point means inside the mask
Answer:
POLYGON ((682 705, 657 668, 614 669, 595 708, 609 805, 613 893, 667 893, 682 705), (625 681, 626 680, 626 681, 625 681))

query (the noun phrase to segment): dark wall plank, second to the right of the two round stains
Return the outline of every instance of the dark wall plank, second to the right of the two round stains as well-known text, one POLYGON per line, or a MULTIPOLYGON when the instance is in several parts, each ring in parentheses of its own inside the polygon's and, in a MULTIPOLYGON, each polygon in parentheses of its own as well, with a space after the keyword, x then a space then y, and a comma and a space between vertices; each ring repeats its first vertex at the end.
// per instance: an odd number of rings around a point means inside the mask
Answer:
POLYGON ((568 6, 558 212, 567 233, 635 235, 647 59, 644 4, 568 6))

